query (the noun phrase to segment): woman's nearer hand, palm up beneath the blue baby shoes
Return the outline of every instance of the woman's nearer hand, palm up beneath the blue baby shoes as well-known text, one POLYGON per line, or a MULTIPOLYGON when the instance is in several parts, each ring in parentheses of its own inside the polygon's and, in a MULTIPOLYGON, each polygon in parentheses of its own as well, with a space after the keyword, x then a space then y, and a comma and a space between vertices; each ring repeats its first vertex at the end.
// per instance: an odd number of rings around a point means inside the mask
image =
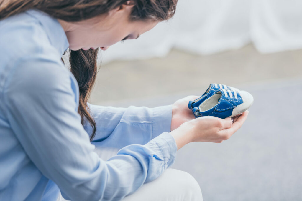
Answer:
POLYGON ((234 122, 231 118, 199 117, 183 123, 170 133, 176 141, 177 149, 190 142, 221 143, 228 140, 242 126, 248 113, 245 111, 242 115, 234 117, 234 122))

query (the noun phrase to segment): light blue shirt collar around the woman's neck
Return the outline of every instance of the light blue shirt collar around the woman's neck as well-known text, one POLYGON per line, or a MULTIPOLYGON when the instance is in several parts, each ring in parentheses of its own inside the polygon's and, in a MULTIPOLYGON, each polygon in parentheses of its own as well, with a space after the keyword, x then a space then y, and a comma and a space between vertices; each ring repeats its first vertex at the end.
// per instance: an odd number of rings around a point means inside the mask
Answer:
POLYGON ((59 21, 39 10, 28 10, 26 12, 40 21, 47 33, 51 45, 54 46, 61 55, 63 55, 69 47, 69 42, 59 21))

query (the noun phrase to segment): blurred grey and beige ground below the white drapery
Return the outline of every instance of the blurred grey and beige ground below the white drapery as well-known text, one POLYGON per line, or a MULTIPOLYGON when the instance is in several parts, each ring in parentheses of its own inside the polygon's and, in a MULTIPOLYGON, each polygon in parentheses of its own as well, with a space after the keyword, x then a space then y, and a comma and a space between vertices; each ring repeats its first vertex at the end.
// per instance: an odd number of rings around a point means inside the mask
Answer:
POLYGON ((204 200, 302 200, 302 50, 261 55, 249 45, 210 56, 116 61, 98 74, 91 103, 154 107, 201 95, 209 83, 249 91, 243 127, 221 143, 190 143, 172 168, 192 174, 204 200))

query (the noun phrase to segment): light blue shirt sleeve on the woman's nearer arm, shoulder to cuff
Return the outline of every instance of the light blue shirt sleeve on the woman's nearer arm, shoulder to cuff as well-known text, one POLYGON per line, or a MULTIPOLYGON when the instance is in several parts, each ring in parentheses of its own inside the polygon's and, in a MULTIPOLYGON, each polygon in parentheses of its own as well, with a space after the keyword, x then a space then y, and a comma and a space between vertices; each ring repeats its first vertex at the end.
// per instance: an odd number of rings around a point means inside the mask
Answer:
POLYGON ((6 118, 26 155, 65 199, 120 200, 173 164, 177 146, 167 132, 101 160, 76 112, 78 86, 67 71, 59 61, 28 58, 10 72, 3 92, 6 118))

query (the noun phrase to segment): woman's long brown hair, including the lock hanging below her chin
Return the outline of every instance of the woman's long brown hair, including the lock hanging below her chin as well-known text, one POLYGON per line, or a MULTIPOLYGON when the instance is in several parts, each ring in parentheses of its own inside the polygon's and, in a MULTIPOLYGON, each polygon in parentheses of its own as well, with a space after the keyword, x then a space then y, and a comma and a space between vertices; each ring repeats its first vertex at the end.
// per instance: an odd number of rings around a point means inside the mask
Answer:
MULTIPOLYGON (((76 22, 106 14, 125 2, 127 0, 0 0, 0 20, 29 9, 37 9, 54 18, 76 22)), ((133 2, 130 20, 164 21, 174 15, 177 0, 133 0, 133 2)), ((87 119, 92 126, 90 136, 92 140, 95 136, 96 124, 90 114, 87 101, 97 74, 98 49, 69 51, 70 70, 76 77, 80 89, 78 113, 81 115, 83 125, 87 119)))

